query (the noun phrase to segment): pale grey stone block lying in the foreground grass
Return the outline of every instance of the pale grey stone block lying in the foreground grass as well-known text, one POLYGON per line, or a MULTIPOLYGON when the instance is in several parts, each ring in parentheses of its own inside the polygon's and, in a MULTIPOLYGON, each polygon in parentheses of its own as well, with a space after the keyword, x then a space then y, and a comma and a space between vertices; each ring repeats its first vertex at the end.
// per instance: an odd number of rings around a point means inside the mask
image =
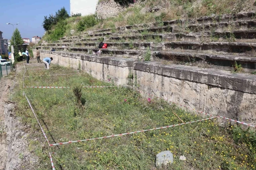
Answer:
POLYGON ((160 152, 156 156, 156 166, 163 166, 173 163, 173 154, 170 151, 160 152))

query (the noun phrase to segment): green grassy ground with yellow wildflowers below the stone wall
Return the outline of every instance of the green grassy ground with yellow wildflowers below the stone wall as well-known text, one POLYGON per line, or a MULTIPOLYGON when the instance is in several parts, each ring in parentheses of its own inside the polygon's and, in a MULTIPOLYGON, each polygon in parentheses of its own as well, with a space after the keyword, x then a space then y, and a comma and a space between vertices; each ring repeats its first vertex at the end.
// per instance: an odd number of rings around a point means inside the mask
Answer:
MULTIPOLYGON (((20 66, 23 67, 23 66, 20 66)), ((28 68, 35 68, 28 65, 28 68)), ((43 68, 37 66, 37 68, 43 68)), ((26 76, 70 74, 75 70, 53 65, 50 70, 27 70, 26 76)), ((254 169, 256 166, 256 133, 217 120, 148 131, 122 137, 91 140, 81 143, 46 146, 45 139, 22 95, 21 71, 13 95, 16 114, 31 124, 29 149, 41 160, 43 168, 51 169, 48 153, 56 152, 56 169, 156 169, 156 154, 170 150, 174 162, 159 169, 254 169), (37 138, 37 140, 34 140, 37 138), (187 160, 179 160, 184 155, 187 160)), ((25 86, 96 86, 112 85, 90 75, 25 77, 25 86)), ((25 89, 50 143, 60 143, 146 130, 154 127, 200 120, 205 117, 180 109, 163 100, 142 98, 127 88, 84 88, 79 108, 72 89, 25 89)), ((24 167, 26 169, 26 167, 24 167)))

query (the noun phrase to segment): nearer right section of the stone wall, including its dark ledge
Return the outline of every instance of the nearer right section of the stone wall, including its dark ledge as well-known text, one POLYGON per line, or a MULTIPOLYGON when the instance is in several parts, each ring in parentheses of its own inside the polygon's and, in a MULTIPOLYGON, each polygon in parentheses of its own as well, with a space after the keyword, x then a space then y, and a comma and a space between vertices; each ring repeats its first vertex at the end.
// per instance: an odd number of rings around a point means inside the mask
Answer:
POLYGON ((135 86, 145 97, 152 94, 170 102, 212 115, 256 124, 256 77, 211 73, 207 69, 161 65, 154 62, 134 64, 135 86))

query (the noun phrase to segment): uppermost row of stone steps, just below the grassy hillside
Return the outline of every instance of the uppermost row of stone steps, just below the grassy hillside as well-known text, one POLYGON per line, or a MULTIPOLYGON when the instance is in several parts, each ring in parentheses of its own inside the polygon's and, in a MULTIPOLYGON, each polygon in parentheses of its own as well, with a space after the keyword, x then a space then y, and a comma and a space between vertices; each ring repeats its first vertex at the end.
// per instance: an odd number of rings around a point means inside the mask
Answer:
MULTIPOLYGON (((163 26, 167 25, 189 25, 189 24, 211 24, 211 23, 218 23, 218 22, 230 22, 230 21, 241 21, 241 20, 252 20, 255 19, 256 11, 251 12, 242 12, 238 14, 223 14, 223 15, 212 15, 212 16, 205 16, 195 19, 177 19, 171 21, 163 21, 163 26)), ((124 30, 133 30, 133 29, 141 29, 141 28, 150 28, 156 27, 159 23, 147 23, 147 24, 138 24, 138 25, 128 25, 123 27, 116 27, 118 31, 124 30)), ((102 29, 102 30, 95 30, 95 31, 87 31, 84 34, 94 34, 97 32, 109 32, 112 29, 102 29)))

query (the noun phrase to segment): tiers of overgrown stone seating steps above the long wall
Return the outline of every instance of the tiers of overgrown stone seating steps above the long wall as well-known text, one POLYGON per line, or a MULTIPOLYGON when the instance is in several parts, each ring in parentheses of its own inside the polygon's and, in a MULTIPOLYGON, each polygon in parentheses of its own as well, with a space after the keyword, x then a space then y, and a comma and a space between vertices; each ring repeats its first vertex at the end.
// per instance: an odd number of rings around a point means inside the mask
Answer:
POLYGON ((95 56, 99 42, 106 42, 102 56, 133 58, 162 64, 182 64, 242 73, 256 69, 256 12, 224 14, 197 19, 164 21, 83 32, 38 46, 41 50, 95 56))

